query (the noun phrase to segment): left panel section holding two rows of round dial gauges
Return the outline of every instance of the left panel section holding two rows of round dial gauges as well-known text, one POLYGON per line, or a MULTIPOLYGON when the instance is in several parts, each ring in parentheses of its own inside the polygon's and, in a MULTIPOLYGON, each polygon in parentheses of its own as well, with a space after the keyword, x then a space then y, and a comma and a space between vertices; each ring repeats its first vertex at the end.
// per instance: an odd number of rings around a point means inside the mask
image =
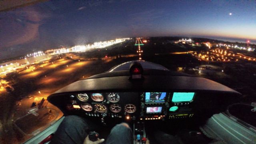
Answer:
POLYGON ((79 92, 70 94, 73 110, 88 116, 100 116, 102 113, 110 117, 122 118, 126 114, 137 115, 139 110, 138 92, 79 92), (80 96, 87 95, 86 101, 80 96))

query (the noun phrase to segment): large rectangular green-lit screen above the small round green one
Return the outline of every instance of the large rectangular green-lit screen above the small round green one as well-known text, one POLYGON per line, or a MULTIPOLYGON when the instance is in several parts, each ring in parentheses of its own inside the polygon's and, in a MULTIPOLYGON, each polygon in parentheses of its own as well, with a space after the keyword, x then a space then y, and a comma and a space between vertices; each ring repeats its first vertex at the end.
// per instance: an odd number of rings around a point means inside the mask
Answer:
POLYGON ((193 100, 194 92, 174 92, 172 102, 190 102, 193 100))

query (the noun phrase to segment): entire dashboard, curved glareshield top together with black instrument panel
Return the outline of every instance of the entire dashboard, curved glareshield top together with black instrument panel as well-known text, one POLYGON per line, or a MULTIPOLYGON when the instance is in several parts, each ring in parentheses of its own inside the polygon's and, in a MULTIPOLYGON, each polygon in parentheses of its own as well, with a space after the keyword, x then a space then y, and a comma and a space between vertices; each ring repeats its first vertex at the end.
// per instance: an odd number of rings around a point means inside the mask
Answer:
POLYGON ((96 75, 54 92, 47 100, 64 115, 168 120, 210 117, 242 98, 206 78, 148 72, 141 80, 131 80, 128 70, 96 75))

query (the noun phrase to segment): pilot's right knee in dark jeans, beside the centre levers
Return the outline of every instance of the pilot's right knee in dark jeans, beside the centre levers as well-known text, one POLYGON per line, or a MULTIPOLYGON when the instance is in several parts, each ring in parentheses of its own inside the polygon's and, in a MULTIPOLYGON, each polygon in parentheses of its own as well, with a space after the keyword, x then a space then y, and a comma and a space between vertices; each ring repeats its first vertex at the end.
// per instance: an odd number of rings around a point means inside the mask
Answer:
POLYGON ((126 123, 117 124, 112 128, 106 144, 133 144, 132 129, 126 123))

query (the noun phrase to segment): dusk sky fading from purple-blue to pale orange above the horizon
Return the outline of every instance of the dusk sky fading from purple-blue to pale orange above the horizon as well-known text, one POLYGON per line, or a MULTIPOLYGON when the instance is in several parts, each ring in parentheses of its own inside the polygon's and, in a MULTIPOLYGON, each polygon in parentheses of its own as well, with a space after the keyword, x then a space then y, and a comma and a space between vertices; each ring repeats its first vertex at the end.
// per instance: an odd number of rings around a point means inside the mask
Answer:
POLYGON ((0 59, 114 38, 256 39, 255 1, 46 1, 0 12, 0 59))

